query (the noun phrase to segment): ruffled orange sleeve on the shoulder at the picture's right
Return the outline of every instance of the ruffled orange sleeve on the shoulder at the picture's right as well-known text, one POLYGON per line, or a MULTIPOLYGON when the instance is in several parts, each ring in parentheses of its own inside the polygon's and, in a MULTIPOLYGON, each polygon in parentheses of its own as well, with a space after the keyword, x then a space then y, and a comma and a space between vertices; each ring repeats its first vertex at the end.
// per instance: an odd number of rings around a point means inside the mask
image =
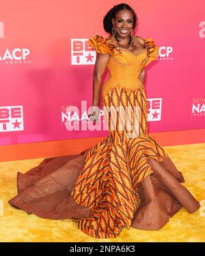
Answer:
POLYGON ((144 40, 145 47, 147 49, 147 56, 141 62, 141 65, 143 65, 143 67, 148 65, 152 60, 155 60, 159 51, 159 47, 154 43, 154 40, 152 38, 145 38, 144 40))

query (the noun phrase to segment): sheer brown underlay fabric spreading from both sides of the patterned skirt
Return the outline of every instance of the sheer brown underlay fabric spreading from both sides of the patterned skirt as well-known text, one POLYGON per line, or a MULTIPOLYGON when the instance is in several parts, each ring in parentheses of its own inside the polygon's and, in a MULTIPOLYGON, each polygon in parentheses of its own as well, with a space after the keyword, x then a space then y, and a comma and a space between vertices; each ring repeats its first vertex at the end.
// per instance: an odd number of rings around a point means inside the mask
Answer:
MULTIPOLYGON (((147 160, 154 173, 137 187, 141 203, 131 227, 158 230, 182 207, 193 213, 200 203, 180 184, 184 178, 169 157, 161 162, 147 160)), ((9 201, 10 205, 51 220, 88 217, 90 209, 70 196, 83 165, 81 152, 47 158, 25 174, 18 172, 18 195, 9 201)))

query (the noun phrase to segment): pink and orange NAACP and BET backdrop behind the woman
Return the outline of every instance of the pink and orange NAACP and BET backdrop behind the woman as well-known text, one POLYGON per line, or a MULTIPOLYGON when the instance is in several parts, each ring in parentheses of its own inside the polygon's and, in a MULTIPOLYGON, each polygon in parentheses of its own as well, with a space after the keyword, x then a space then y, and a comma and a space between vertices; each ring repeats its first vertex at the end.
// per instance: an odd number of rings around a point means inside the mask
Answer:
MULTIPOLYGON (((102 21, 118 3, 0 0, 0 145, 108 135, 87 117, 96 60, 88 38, 109 36, 102 21)), ((159 46, 146 67, 148 132, 205 128, 204 0, 126 3, 135 35, 159 46)))

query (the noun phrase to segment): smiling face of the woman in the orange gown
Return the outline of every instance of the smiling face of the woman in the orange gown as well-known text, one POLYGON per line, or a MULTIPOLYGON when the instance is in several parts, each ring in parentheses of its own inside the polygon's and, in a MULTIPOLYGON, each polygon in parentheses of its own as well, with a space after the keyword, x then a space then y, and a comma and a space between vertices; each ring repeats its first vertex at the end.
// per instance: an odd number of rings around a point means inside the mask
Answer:
POLYGON ((116 14, 115 19, 112 19, 112 23, 119 36, 128 36, 133 29, 133 12, 130 10, 121 10, 116 14))

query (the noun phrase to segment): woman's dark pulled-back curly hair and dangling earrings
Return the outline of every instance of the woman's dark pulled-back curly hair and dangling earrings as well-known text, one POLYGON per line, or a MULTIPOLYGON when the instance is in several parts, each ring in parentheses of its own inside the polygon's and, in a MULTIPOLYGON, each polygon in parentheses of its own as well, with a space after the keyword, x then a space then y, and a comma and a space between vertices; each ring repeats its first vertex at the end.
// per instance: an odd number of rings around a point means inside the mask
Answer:
MULTIPOLYGON (((108 32, 110 35, 112 34, 112 28, 113 28, 112 19, 115 19, 116 14, 121 10, 130 10, 131 12, 133 12, 133 32, 135 34, 134 30, 137 25, 137 14, 133 10, 133 8, 131 8, 131 6, 126 3, 120 3, 118 5, 114 5, 113 8, 111 8, 111 10, 107 12, 107 14, 103 19, 104 30, 108 32)), ((117 36, 115 36, 115 39, 119 42, 117 36)), ((128 47, 131 45, 131 43, 133 44, 133 37, 130 35, 128 40, 128 47)))

